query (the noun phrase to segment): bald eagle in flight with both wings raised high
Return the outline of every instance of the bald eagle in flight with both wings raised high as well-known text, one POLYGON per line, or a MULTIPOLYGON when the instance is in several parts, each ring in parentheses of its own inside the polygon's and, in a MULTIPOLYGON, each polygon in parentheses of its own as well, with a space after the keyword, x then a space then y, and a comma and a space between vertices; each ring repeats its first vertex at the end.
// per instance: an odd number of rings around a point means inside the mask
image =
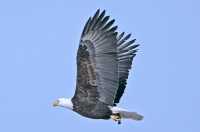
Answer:
POLYGON ((136 39, 131 34, 118 35, 114 19, 98 9, 86 22, 77 52, 76 91, 72 98, 59 98, 61 106, 92 119, 142 120, 136 112, 117 107, 122 97, 136 55, 136 39))

